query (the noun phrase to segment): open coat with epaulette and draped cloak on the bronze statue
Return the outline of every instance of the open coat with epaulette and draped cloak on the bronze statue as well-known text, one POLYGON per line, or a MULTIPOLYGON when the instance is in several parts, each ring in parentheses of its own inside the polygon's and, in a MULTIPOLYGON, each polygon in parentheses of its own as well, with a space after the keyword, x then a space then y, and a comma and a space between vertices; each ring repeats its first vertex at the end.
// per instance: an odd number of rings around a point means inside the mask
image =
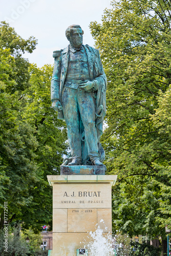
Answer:
MULTIPOLYGON (((106 112, 105 94, 106 94, 106 75, 104 73, 99 51, 88 45, 82 45, 87 53, 88 65, 91 81, 94 81, 94 97, 96 109, 96 130, 98 141, 102 135, 103 118, 106 112)), ((51 100, 58 99, 62 105, 62 90, 65 86, 66 75, 69 65, 69 46, 60 51, 54 51, 55 59, 53 76, 51 81, 51 100)), ((64 119, 62 111, 58 113, 58 119, 64 119)))

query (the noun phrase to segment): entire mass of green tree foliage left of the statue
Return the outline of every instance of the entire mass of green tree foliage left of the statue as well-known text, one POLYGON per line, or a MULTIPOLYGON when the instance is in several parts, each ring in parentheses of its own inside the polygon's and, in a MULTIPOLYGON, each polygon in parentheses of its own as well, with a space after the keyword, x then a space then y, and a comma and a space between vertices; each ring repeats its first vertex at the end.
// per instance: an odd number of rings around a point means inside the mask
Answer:
POLYGON ((52 66, 37 69, 22 57, 35 49, 5 22, 0 25, 0 229, 4 201, 8 223, 41 230, 52 227, 52 188, 47 175, 59 174, 66 152, 66 126, 51 108, 52 66), (38 216, 38 218, 37 218, 38 216))

